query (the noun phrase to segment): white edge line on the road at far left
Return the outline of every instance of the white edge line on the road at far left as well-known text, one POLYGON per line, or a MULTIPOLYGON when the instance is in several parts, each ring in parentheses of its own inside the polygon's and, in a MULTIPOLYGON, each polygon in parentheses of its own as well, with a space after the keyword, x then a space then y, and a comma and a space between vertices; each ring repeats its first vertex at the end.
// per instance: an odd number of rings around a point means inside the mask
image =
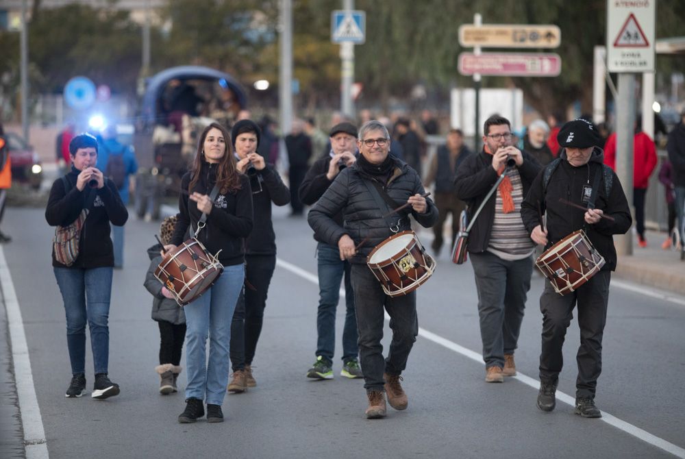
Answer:
POLYGON ((40 416, 40 406, 36 397, 34 375, 31 371, 29 347, 26 343, 24 322, 21 308, 16 298, 14 282, 10 267, 5 260, 5 251, 0 246, 0 286, 5 299, 5 310, 10 327, 10 345, 12 346, 12 363, 14 364, 14 383, 19 399, 19 412, 24 430, 24 447, 27 458, 48 458, 45 429, 40 416))

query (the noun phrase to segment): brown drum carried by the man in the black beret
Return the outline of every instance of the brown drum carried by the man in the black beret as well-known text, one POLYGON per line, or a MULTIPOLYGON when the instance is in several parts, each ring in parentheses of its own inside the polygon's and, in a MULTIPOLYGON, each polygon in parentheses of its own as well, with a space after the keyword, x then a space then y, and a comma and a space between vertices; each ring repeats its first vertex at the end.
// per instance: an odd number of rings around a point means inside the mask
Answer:
POLYGON ((604 258, 579 229, 549 247, 535 265, 559 295, 577 290, 604 266, 604 258))

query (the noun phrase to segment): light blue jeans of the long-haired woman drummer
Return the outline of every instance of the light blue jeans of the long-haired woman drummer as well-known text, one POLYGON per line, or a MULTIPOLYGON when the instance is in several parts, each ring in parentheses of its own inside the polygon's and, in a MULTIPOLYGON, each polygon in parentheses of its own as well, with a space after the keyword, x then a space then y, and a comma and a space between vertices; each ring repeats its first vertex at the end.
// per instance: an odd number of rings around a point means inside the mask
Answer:
POLYGON ((219 280, 184 307, 186 313, 186 399, 221 405, 228 384, 231 319, 245 280, 245 266, 225 266, 219 280), (209 362, 206 357, 210 338, 209 362))

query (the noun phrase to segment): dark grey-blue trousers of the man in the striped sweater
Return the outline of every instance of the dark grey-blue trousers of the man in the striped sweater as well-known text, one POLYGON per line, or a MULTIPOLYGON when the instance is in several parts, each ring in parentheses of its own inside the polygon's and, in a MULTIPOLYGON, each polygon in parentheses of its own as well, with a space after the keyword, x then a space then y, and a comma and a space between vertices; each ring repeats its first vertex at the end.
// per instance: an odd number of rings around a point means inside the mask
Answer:
POLYGON ((503 368, 504 354, 513 354, 519 342, 532 258, 509 261, 490 252, 469 252, 469 256, 478 290, 483 360, 486 368, 503 368))

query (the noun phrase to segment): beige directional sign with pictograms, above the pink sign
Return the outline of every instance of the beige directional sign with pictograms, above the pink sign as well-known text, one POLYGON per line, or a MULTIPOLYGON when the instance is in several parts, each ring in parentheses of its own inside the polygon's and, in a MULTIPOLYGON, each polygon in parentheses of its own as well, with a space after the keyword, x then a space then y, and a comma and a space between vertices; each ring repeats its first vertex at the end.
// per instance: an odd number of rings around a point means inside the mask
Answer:
POLYGON ((561 30, 556 25, 464 24, 459 27, 462 47, 556 48, 561 30))

